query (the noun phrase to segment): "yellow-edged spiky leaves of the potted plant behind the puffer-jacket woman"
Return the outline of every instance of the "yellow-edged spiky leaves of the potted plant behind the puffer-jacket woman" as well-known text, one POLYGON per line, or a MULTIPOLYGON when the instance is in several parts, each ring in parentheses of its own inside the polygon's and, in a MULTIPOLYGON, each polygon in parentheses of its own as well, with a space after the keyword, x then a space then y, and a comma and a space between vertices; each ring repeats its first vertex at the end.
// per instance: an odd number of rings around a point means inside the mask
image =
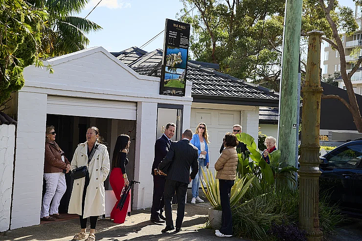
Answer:
MULTIPOLYGON (((220 202, 220 192, 219 192, 219 179, 216 179, 212 175, 211 171, 207 168, 206 174, 203 170, 204 180, 206 180, 206 186, 204 186, 204 182, 201 182, 201 187, 204 191, 204 194, 209 200, 211 206, 214 207, 216 210, 221 210, 221 202, 220 202), (206 192, 207 190, 207 192, 206 192)), ((251 178, 239 178, 236 176, 234 185, 231 188, 230 192, 230 207, 233 207, 236 203, 240 201, 240 199, 245 195, 248 191, 250 183, 253 181, 254 177, 251 178)))

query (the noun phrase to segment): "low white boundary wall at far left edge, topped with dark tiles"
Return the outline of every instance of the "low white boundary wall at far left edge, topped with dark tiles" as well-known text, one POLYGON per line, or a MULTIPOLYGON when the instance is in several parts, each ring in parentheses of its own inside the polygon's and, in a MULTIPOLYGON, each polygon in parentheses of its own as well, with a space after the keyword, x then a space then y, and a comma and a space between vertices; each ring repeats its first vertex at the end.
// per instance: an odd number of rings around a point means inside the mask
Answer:
POLYGON ((0 125, 0 232, 10 227, 15 125, 0 125))

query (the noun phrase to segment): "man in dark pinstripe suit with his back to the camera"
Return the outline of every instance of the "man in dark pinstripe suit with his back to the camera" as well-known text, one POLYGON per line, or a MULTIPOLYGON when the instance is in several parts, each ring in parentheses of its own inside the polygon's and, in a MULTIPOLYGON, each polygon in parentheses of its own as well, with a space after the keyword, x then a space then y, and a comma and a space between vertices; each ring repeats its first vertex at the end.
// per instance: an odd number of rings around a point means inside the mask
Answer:
POLYGON ((172 220, 172 197, 176 191, 177 198, 177 219, 176 232, 181 231, 181 224, 185 213, 185 196, 187 186, 191 179, 194 179, 199 172, 198 150, 192 144, 193 132, 187 129, 182 133, 182 140, 171 143, 170 150, 166 157, 158 165, 159 172, 167 168, 167 176, 165 190, 163 193, 166 214, 166 227, 162 232, 174 230, 174 222, 172 220), (192 172, 190 174, 190 167, 192 172))

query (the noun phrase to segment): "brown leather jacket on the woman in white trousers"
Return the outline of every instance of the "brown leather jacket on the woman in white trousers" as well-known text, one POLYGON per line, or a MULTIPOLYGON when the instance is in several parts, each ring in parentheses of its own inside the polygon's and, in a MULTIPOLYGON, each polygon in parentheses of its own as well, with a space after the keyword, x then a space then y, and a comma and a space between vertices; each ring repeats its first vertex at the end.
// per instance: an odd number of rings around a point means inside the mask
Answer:
POLYGON ((45 142, 44 173, 61 173, 70 165, 66 156, 62 160, 61 150, 55 144, 45 142))

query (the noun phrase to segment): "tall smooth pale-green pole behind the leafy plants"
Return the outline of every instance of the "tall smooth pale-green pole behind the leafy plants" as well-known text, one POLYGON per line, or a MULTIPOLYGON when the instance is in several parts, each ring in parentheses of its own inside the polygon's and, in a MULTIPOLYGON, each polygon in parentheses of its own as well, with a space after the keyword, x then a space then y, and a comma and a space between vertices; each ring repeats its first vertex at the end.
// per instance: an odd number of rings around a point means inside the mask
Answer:
POLYGON ((285 3, 278 122, 278 149, 284 166, 295 166, 295 131, 299 128, 296 115, 299 108, 297 91, 302 5, 302 0, 286 0, 285 3))

